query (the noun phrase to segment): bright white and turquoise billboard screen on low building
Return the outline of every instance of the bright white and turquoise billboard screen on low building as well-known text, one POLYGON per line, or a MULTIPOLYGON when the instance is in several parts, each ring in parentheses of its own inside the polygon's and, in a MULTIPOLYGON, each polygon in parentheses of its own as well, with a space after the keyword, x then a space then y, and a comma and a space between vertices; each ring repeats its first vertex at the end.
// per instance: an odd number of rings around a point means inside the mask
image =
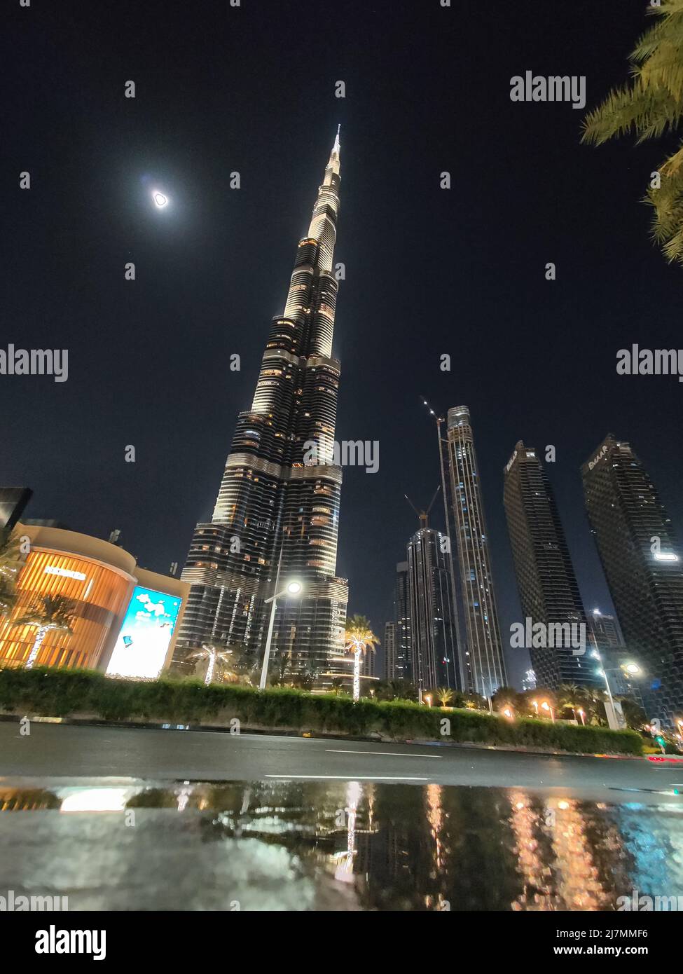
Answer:
POLYGON ((136 585, 116 647, 107 666, 109 676, 158 677, 169 651, 180 612, 177 595, 136 585))

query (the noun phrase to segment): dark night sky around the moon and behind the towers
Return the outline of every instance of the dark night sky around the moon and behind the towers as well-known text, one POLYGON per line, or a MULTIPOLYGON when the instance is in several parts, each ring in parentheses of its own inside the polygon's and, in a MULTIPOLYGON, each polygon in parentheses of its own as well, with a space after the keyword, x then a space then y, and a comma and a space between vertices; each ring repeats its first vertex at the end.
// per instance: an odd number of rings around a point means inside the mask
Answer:
MULTIPOLYGON (((0 377, 0 483, 33 489, 26 516, 100 537, 120 528, 156 571, 184 562, 341 123, 337 438, 380 444, 377 473, 344 472, 337 572, 350 612, 383 636, 417 528, 403 495, 425 505, 439 481, 423 394, 472 412, 505 644, 521 618, 502 503, 519 438, 556 447, 548 472, 588 609, 611 604, 579 467, 606 432, 633 444, 683 525, 683 387, 616 374, 631 343, 681 344, 683 269, 651 243, 639 203, 675 140, 582 146, 584 111, 510 98, 526 70, 586 75, 594 107, 626 80, 644 2, 4 11, 0 347, 69 350, 65 383, 0 377)), ((507 650, 515 680, 521 654, 507 650)))

